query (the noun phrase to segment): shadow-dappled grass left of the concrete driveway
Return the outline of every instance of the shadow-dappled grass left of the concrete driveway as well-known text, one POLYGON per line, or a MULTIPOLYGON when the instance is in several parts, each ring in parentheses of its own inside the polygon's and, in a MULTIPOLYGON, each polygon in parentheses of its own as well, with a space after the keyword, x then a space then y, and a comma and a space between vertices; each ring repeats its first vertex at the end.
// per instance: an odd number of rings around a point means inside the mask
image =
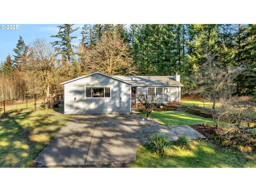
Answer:
POLYGON ((69 117, 52 109, 0 115, 0 167, 33 167, 34 158, 69 117))

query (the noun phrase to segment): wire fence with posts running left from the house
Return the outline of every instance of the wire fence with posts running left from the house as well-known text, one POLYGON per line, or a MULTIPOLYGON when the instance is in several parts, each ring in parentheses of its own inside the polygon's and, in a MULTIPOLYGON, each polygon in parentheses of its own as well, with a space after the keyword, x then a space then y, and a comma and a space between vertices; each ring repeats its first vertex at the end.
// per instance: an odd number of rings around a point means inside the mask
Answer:
POLYGON ((63 101, 63 94, 58 94, 55 97, 4 100, 0 102, 0 114, 10 113, 12 111, 21 112, 23 109, 56 109, 61 112, 63 110, 63 101))

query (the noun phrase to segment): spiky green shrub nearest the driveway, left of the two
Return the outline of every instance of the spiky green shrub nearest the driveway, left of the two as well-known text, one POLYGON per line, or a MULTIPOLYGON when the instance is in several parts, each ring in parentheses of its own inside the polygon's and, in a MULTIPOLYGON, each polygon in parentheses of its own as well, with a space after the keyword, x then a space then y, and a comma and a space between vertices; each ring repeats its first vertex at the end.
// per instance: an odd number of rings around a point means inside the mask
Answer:
POLYGON ((159 157, 168 157, 170 154, 170 141, 162 135, 153 135, 149 142, 151 152, 159 157))

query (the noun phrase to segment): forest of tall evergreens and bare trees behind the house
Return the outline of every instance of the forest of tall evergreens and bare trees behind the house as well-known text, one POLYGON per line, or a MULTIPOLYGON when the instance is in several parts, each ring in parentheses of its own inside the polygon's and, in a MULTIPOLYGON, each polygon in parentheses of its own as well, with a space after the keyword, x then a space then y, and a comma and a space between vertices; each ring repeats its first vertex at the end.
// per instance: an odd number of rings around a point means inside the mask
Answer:
POLYGON ((256 94, 256 25, 84 25, 78 46, 74 25, 58 26, 52 42, 20 36, 0 67, 0 100, 62 93, 60 82, 101 71, 109 75, 181 75, 198 87, 206 55, 223 70, 243 66, 237 94, 256 94), (28 44, 29 43, 29 44, 28 44))

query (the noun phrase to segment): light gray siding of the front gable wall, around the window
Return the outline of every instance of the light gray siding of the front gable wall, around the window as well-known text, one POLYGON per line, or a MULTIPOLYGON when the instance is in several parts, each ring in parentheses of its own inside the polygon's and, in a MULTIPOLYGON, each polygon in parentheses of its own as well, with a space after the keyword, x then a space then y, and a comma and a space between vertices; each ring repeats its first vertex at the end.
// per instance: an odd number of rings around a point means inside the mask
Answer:
POLYGON ((65 114, 130 113, 130 84, 91 75, 65 84, 65 114), (85 86, 110 86, 111 98, 85 98, 85 86), (76 100, 74 100, 76 98, 76 100))

